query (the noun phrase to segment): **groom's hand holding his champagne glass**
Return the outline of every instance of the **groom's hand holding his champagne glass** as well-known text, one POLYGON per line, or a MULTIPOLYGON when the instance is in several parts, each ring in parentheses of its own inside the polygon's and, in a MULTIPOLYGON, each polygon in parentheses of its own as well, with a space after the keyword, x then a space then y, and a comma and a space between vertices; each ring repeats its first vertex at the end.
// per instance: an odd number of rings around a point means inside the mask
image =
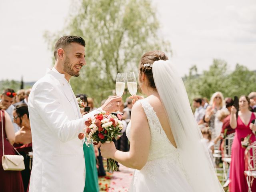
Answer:
POLYGON ((101 106, 101 108, 106 112, 112 113, 120 110, 121 104, 122 104, 121 96, 111 96, 106 100, 106 102, 101 106))

